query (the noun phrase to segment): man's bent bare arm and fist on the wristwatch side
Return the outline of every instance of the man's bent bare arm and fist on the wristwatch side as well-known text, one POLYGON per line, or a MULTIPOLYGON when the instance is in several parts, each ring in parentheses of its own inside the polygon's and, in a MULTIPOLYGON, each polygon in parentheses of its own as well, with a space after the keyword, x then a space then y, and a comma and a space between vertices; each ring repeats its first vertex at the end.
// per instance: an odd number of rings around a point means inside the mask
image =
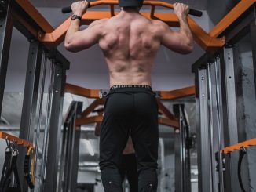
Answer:
MULTIPOLYGON (((86 13, 88 2, 75 2, 71 5, 71 9, 76 16, 82 17, 86 13)), ((83 31, 79 31, 80 20, 71 20, 65 37, 65 48, 70 52, 79 52, 83 49, 90 48, 96 44, 101 37, 101 27, 103 20, 96 20, 83 31)))

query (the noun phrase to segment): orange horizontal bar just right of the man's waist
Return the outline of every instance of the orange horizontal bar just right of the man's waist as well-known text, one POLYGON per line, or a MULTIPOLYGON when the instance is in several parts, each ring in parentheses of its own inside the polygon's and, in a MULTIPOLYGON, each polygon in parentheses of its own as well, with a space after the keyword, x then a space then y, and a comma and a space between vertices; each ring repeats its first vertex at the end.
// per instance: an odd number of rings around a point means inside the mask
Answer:
POLYGON ((161 100, 174 100, 186 96, 194 96, 196 92, 195 86, 177 89, 174 91, 160 91, 161 100))

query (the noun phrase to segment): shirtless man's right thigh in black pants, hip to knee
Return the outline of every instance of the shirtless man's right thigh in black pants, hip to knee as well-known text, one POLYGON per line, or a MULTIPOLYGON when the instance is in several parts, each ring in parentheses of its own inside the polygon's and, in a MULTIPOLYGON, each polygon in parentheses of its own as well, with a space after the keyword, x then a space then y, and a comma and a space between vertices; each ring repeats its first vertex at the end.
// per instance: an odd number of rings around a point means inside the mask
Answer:
POLYGON ((131 129, 138 170, 157 168, 158 158, 158 106, 152 92, 135 96, 136 118, 131 129))

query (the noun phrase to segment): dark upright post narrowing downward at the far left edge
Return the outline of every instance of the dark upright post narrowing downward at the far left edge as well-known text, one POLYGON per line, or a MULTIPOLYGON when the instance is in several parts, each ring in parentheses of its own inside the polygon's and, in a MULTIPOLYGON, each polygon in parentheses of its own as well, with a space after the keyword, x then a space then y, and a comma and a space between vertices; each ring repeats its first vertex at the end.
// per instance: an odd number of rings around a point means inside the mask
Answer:
MULTIPOLYGON (((2 112, 2 100, 5 91, 5 79, 9 60, 9 47, 13 32, 13 17, 10 14, 9 8, 11 1, 8 1, 7 3, 8 5, 6 10, 3 10, 0 14, 0 117, 2 112)), ((3 6, 5 6, 5 2, 3 2, 3 6)))

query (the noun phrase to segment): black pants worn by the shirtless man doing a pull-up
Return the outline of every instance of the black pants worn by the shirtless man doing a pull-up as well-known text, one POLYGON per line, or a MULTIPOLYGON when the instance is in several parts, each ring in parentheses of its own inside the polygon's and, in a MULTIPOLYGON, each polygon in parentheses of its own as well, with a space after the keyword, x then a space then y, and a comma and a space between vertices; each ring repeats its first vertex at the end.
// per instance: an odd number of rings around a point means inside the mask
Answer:
POLYGON ((101 179, 106 192, 121 192, 119 167, 131 136, 137 156, 139 191, 156 191, 158 106, 150 86, 116 85, 104 106, 100 137, 101 179))

